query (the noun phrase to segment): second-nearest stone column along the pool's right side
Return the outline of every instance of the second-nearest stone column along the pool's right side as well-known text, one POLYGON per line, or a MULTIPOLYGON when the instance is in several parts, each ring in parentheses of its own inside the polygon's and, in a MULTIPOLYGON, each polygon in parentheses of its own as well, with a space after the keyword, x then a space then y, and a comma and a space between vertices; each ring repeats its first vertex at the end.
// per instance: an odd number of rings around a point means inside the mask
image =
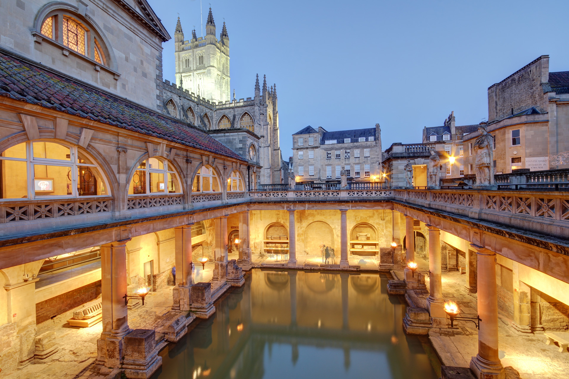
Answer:
POLYGON ((428 228, 428 268, 430 272, 427 309, 431 315, 432 327, 447 325, 447 314, 443 310, 443 284, 440 270, 440 229, 432 225, 428 228))

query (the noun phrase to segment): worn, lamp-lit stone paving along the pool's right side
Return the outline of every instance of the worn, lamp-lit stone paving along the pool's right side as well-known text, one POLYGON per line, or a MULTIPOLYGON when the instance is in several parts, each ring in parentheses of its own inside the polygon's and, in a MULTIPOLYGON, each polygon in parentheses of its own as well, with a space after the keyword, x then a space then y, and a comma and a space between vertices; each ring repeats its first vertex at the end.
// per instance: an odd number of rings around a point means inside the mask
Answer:
MULTIPOLYGON (((420 269, 428 270, 428 262, 417 258, 420 269)), ((402 272, 401 272, 402 274, 402 272)), ((443 297, 455 301, 461 316, 476 317, 477 295, 465 289, 465 274, 443 272, 443 297)), ((428 289, 428 278, 427 278, 428 289)), ((422 302, 428 294, 418 294, 422 302)), ((512 321, 498 316, 499 349, 502 365, 512 366, 523 379, 569 379, 569 353, 559 347, 546 345, 543 332, 522 333, 512 327, 512 321)), ((450 320, 448 320, 450 326, 450 320)), ((456 329, 431 329, 429 339, 443 365, 468 367, 478 352, 478 330, 469 321, 455 321, 456 329)))

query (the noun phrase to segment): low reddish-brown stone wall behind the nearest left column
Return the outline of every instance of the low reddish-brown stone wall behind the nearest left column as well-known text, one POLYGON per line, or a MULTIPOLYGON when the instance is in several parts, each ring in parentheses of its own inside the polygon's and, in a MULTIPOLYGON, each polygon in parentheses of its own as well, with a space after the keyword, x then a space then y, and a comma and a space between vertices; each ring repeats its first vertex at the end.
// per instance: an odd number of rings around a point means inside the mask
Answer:
POLYGON ((36 304, 36 324, 49 320, 72 308, 97 298, 101 294, 101 281, 66 292, 36 304))

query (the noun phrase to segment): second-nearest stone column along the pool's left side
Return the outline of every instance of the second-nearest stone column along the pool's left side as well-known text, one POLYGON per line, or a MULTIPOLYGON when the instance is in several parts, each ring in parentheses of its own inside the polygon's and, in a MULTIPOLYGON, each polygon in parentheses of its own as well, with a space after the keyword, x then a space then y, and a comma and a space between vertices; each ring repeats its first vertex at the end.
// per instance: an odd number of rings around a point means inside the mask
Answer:
POLYGON ((172 309, 189 311, 191 299, 189 288, 192 280, 192 224, 174 228, 176 286, 172 289, 172 309))

